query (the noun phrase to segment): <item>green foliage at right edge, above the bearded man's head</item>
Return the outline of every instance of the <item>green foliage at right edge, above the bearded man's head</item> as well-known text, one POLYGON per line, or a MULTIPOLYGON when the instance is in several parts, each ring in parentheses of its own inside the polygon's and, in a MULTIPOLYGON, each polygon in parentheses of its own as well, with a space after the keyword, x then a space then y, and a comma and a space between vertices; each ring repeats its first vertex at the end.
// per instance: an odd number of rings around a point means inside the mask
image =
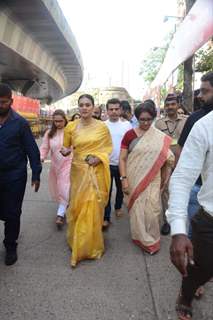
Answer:
POLYGON ((198 72, 208 72, 213 70, 213 45, 206 49, 198 50, 196 54, 195 70, 198 72))

